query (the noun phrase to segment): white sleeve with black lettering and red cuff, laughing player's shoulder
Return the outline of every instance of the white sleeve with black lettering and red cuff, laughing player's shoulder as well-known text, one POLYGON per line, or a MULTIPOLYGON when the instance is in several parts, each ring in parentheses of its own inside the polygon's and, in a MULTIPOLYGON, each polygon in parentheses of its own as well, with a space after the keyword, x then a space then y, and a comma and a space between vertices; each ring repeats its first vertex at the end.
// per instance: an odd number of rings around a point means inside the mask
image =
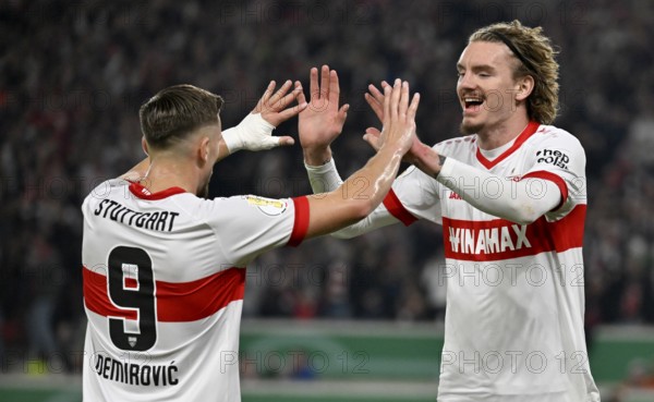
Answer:
POLYGON ((522 180, 537 178, 554 182, 561 202, 546 217, 557 220, 577 205, 586 204, 585 153, 579 141, 565 131, 549 133, 532 149, 533 165, 522 180))

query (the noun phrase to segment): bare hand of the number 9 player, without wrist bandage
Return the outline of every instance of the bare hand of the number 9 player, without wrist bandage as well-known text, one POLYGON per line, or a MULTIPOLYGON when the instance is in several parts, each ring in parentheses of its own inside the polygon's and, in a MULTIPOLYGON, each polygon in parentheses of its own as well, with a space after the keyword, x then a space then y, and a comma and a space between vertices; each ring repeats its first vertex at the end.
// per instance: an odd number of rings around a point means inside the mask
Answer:
POLYGON ((377 138, 379 149, 393 147, 404 155, 413 145, 420 94, 413 94, 411 102, 409 98, 409 83, 405 81, 398 78, 392 87, 384 87, 384 129, 377 138))

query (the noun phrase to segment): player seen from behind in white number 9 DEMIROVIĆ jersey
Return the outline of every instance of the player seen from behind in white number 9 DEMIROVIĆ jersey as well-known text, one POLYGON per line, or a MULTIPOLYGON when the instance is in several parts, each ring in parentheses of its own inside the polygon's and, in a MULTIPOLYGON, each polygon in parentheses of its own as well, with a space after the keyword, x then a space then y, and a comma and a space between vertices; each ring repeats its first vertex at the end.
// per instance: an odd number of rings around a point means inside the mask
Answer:
MULTIPOLYGON (((324 85, 312 103, 338 105, 336 73, 324 85)), ((222 158, 293 143, 271 136, 308 110, 300 83, 291 87, 289 81, 275 92, 270 83, 253 112, 225 132, 222 99, 192 85, 166 88, 142 106, 148 157, 98 185, 82 206, 84 400, 240 401, 247 264, 354 223, 389 191, 413 141, 419 103, 399 80, 385 89, 379 151, 341 188, 319 197, 206 199, 222 158)))

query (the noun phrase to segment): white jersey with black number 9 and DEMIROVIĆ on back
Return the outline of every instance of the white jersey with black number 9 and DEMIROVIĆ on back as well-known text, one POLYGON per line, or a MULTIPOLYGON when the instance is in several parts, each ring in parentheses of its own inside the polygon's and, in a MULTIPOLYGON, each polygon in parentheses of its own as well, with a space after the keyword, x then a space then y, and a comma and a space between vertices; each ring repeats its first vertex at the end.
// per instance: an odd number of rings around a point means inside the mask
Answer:
POLYGON ((240 401, 245 266, 298 245, 305 197, 203 199, 109 180, 84 200, 85 401, 240 401))

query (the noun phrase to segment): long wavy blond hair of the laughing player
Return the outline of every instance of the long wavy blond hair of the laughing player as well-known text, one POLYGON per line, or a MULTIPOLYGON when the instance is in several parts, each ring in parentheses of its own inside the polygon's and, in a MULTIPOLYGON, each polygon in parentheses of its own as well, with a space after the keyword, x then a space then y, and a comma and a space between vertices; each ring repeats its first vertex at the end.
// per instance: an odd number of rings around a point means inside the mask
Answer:
POLYGON ((543 28, 530 28, 514 20, 510 23, 497 23, 477 29, 468 39, 473 41, 504 42, 520 61, 513 71, 513 77, 531 75, 534 89, 526 99, 529 118, 542 124, 550 124, 558 112, 558 69, 555 60, 558 53, 545 35, 543 28))

